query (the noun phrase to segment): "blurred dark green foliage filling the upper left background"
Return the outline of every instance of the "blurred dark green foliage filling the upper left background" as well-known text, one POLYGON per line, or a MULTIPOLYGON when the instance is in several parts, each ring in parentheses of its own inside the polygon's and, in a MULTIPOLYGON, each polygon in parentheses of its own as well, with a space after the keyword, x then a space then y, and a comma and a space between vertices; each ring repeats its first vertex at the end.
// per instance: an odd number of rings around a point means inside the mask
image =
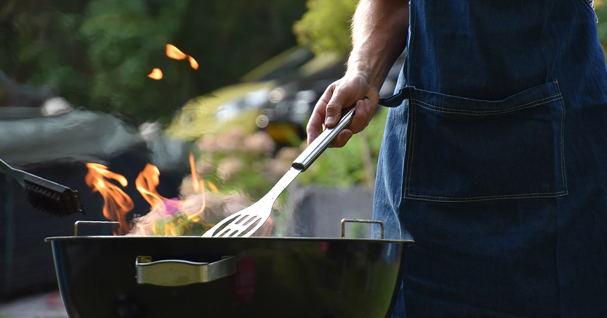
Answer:
POLYGON ((0 69, 51 84, 76 106, 167 122, 188 99, 233 84, 296 44, 304 0, 8 0, 0 69), (198 61, 165 55, 174 44, 198 61), (156 81, 147 75, 163 71, 156 81))

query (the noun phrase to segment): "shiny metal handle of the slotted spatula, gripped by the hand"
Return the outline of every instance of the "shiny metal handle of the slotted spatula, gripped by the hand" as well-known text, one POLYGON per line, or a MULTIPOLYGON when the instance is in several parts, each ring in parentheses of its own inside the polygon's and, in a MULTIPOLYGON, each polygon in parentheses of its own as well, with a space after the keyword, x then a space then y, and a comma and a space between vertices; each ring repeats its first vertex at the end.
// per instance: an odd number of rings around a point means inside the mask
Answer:
POLYGON ((345 108, 345 113, 342 113, 341 119, 337 125, 322 131, 320 136, 314 139, 308 148, 305 148, 304 152, 302 152, 299 157, 293 161, 293 168, 305 171, 308 167, 310 167, 312 162, 314 162, 316 158, 320 156, 323 151, 325 151, 325 149, 333 144, 333 141, 335 141, 337 138, 337 134, 350 125, 353 117, 354 106, 345 108))

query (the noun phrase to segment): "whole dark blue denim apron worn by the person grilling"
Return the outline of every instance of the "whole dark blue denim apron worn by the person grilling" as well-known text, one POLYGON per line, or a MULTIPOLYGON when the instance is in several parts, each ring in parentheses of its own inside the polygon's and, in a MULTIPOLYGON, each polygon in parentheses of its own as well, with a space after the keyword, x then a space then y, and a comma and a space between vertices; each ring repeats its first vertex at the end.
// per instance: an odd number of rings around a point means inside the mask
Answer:
POLYGON ((374 214, 393 317, 607 317, 607 69, 585 0, 411 0, 374 214))

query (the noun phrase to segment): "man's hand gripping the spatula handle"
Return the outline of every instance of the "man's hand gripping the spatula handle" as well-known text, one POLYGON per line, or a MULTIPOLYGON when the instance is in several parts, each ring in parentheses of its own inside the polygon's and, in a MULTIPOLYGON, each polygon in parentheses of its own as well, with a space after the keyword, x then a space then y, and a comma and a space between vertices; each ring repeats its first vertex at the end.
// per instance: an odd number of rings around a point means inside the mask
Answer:
POLYGON ((363 73, 346 75, 333 82, 320 96, 308 122, 306 129, 308 145, 318 137, 323 124, 333 127, 339 122, 341 110, 356 104, 356 111, 350 126, 342 130, 333 142, 333 147, 344 147, 352 134, 359 133, 367 127, 375 114, 378 102, 377 88, 368 83, 368 79, 363 73))

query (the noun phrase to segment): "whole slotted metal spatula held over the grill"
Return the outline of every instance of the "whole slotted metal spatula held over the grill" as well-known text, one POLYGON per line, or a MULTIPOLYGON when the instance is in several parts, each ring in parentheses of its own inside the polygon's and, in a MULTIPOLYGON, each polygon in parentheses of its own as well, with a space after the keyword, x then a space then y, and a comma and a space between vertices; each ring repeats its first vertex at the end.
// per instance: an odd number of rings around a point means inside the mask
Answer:
POLYGON ((325 151, 337 137, 340 131, 350 125, 354 116, 354 107, 345 110, 341 120, 337 125, 325 129, 320 136, 302 152, 295 161, 292 167, 285 173, 282 178, 274 185, 274 187, 263 196, 259 201, 255 202, 245 210, 234 213, 231 216, 221 220, 217 225, 210 228, 203 234, 203 237, 231 237, 242 236, 248 237, 255 233, 265 221, 270 217, 274 202, 285 188, 295 179, 300 172, 305 171, 312 162, 316 160, 320 154, 325 151))

